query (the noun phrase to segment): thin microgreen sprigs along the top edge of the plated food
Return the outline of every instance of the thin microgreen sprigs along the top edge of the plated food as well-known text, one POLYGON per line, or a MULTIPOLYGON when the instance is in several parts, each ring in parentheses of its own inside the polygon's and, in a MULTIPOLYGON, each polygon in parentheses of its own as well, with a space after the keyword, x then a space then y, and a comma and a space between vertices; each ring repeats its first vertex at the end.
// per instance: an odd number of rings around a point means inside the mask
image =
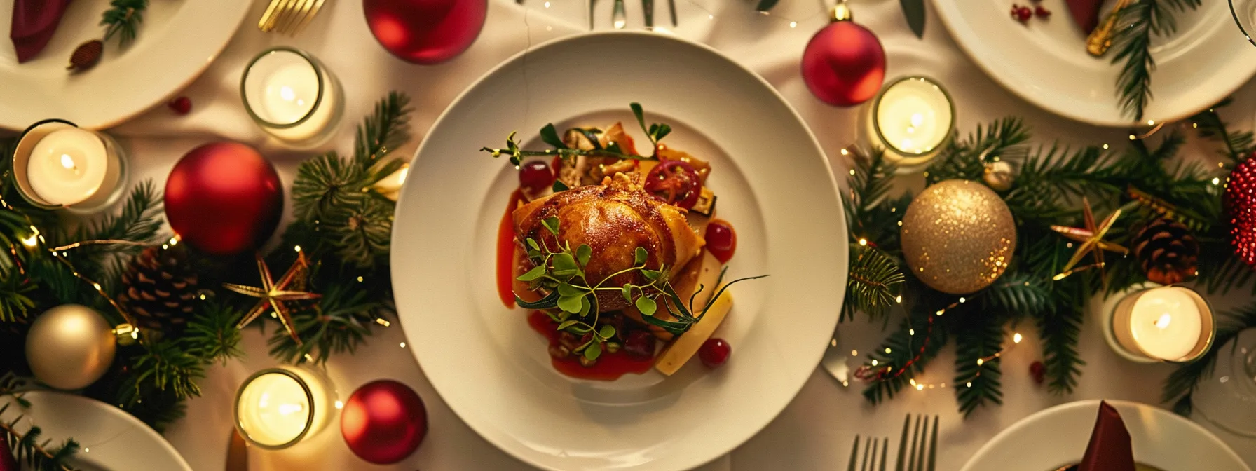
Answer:
MULTIPOLYGON (((637 116, 637 123, 641 124, 641 129, 646 132, 646 136, 649 138, 649 142, 654 146, 653 148, 657 149, 658 141, 661 141, 663 137, 671 133, 672 127, 664 123, 652 123, 647 127, 646 116, 641 108, 641 104, 632 103, 631 107, 633 114, 637 116)), ((657 156, 653 154, 653 152, 651 152, 649 156, 637 156, 627 153, 623 151, 622 147, 619 147, 619 143, 617 142, 612 142, 605 147, 603 147, 598 142, 598 134, 602 132, 600 129, 597 128, 574 128, 574 129, 584 134, 584 137, 589 139, 589 142, 593 144, 592 149, 569 147, 566 143, 563 142, 563 138, 561 136, 559 136, 558 128, 554 127, 554 123, 549 123, 541 128, 540 137, 543 142, 545 142, 553 148, 544 151, 524 151, 519 148, 519 142, 515 141, 516 132, 511 132, 510 136, 506 137, 505 148, 481 147, 480 151, 489 152, 494 157, 501 157, 502 154, 510 156, 510 163, 514 165, 515 167, 519 167, 522 163, 524 157, 559 156, 560 158, 563 158, 564 162, 569 165, 575 165, 575 157, 578 156, 612 157, 612 158, 634 160, 634 161, 652 161, 658 158, 657 156)), ((566 190, 565 185, 564 190, 566 190)), ((558 183, 554 185, 554 191, 560 191, 558 188, 558 183)))

